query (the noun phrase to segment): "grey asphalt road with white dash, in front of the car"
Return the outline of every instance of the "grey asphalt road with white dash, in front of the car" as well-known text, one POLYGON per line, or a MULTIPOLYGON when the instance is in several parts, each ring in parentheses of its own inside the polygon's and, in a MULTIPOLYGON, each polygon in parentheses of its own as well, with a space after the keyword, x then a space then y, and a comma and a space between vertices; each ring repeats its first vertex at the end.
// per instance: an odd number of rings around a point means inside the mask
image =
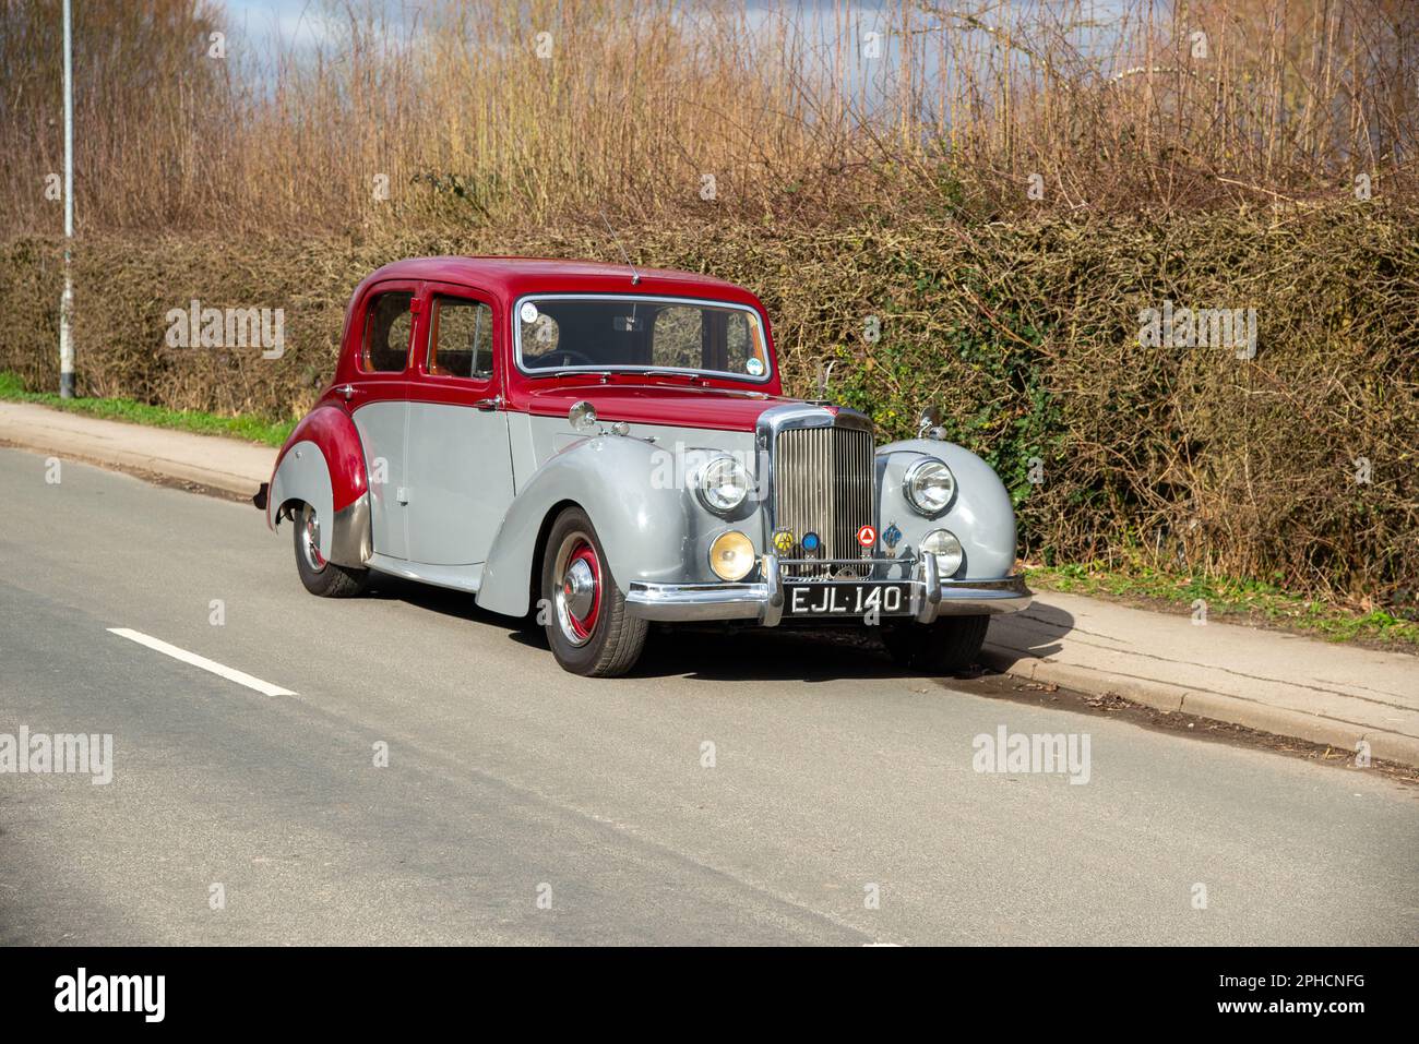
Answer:
POLYGON ((251 506, 45 478, 0 451, 0 733, 111 733, 114 780, 0 774, 0 943, 1419 940, 1419 794, 1376 773, 785 634, 575 678, 464 596, 308 596, 251 506), (976 772, 1002 725, 1088 733, 1088 783, 976 772))

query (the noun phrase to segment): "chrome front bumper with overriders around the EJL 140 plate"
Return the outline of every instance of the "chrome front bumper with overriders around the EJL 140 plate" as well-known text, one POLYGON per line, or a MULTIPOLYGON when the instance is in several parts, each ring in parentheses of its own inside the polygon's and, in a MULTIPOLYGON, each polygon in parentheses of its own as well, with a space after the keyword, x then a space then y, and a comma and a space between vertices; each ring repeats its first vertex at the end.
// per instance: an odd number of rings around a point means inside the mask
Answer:
MULTIPOLYGON (((856 565, 866 565, 858 560, 856 565)), ((942 580, 935 559, 927 556, 911 566, 905 577, 876 576, 902 569, 897 559, 871 562, 874 576, 844 580, 797 579, 803 584, 907 583, 912 592, 911 618, 929 624, 941 616, 1017 613, 1030 604, 1030 590, 1019 573, 998 580, 942 580)), ((758 620, 775 627, 783 617, 783 573, 775 555, 762 559, 763 579, 753 583, 636 583, 626 593, 627 611, 644 620, 687 623, 695 620, 758 620)), ((812 620, 816 617, 802 617, 812 620)))

